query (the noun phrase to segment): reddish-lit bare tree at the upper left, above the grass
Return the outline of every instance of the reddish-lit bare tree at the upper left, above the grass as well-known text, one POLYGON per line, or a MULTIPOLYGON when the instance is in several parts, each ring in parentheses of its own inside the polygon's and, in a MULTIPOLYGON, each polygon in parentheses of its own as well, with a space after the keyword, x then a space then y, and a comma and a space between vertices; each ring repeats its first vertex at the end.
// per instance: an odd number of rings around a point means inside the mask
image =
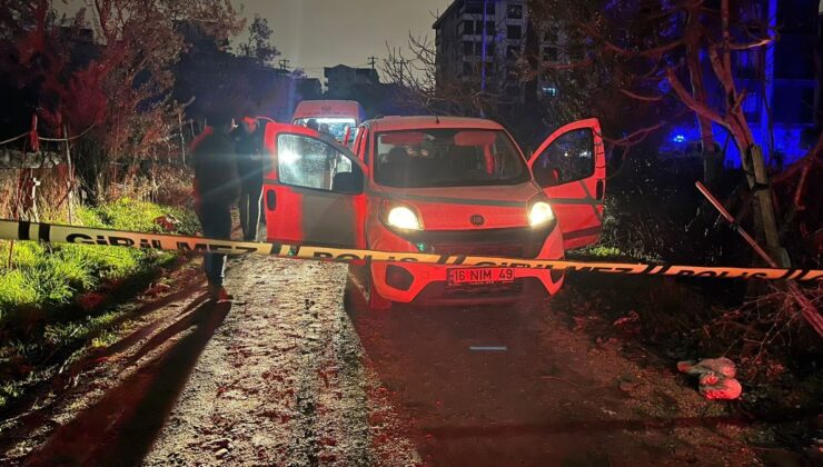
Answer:
POLYGON ((39 96, 44 132, 86 132, 73 151, 83 188, 103 195, 111 162, 131 166, 168 150, 177 112, 171 66, 184 42, 176 27, 196 22, 216 37, 242 22, 228 0, 87 0, 71 19, 52 0, 4 2, 0 14, 2 71, 39 96), (93 41, 79 42, 83 30, 93 41), (83 56, 78 62, 76 57, 83 56))

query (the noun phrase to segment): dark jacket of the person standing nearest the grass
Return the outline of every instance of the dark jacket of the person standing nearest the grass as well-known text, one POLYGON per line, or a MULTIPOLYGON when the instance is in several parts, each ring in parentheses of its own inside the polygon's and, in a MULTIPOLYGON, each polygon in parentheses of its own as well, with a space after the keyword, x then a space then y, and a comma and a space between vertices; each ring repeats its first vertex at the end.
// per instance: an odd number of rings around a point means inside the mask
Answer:
POLYGON ((199 206, 229 207, 240 196, 235 145, 224 133, 208 129, 192 147, 195 199, 199 206))

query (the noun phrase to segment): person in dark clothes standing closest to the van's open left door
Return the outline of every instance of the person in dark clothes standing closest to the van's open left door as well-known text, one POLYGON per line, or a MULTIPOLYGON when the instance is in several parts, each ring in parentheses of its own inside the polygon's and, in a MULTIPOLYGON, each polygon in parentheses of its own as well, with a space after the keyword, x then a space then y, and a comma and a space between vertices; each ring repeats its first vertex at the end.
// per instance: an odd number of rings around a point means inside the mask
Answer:
POLYGON ((262 126, 254 117, 244 117, 232 131, 237 172, 240 177, 240 227, 242 239, 257 240, 262 198, 262 126))

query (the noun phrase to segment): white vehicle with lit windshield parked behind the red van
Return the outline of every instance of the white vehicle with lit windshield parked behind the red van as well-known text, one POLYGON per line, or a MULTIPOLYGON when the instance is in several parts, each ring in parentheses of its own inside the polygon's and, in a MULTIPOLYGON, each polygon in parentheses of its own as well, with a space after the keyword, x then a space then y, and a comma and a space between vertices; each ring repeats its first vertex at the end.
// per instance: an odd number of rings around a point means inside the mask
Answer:
POLYGON ((356 137, 357 128, 365 120, 363 106, 354 100, 304 100, 297 105, 291 123, 300 127, 317 123, 317 130, 328 126, 328 132, 344 146, 356 137))

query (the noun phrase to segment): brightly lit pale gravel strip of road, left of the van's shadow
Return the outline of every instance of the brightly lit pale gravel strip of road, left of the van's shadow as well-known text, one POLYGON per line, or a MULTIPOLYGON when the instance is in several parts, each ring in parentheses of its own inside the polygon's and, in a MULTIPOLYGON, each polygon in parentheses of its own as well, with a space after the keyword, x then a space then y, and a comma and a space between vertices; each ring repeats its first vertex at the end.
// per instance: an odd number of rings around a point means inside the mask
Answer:
POLYGON ((237 264, 238 299, 146 464, 412 463, 407 440, 383 458, 371 449, 369 413, 386 408, 369 404, 376 381, 344 310, 346 276, 341 265, 237 264))

